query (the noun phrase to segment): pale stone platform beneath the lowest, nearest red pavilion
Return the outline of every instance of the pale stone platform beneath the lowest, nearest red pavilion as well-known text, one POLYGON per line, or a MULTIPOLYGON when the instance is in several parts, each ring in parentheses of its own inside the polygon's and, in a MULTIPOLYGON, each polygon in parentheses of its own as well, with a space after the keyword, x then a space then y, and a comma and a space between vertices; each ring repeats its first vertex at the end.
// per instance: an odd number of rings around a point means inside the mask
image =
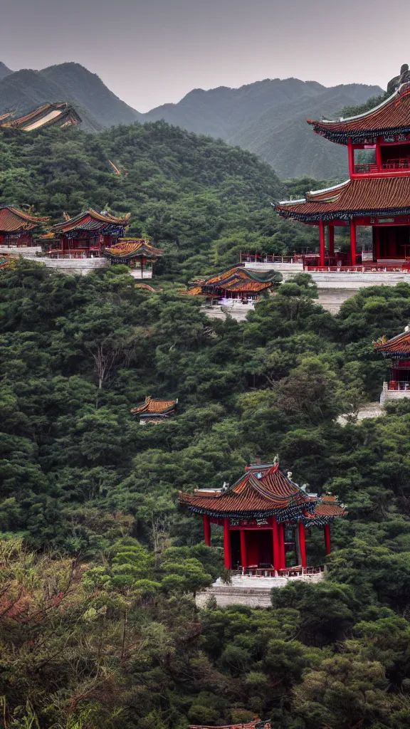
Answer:
POLYGON ((214 598, 219 607, 229 605, 247 605, 248 607, 271 607, 271 589, 284 588, 289 582, 302 580, 315 584, 325 577, 324 572, 303 574, 299 577, 248 577, 234 575, 230 584, 222 582, 220 577, 210 588, 202 590, 196 596, 197 607, 206 607, 209 598, 214 598))

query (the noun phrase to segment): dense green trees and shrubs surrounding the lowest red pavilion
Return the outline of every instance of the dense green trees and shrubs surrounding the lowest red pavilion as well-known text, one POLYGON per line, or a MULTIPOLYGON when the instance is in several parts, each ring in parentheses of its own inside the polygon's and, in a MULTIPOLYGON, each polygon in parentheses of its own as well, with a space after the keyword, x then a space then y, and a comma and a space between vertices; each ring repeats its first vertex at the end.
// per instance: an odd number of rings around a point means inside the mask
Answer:
MULTIPOLYGON (((206 319, 125 268, 0 282, 0 695, 7 729, 409 725, 410 409, 348 424, 381 388, 372 340, 410 317, 410 286, 363 289, 338 317, 309 276, 249 321, 206 319), (177 416, 139 426, 146 394, 177 416), (179 489, 232 481, 276 453, 339 494, 329 577, 270 611, 197 612, 221 535, 179 489)), ((312 530, 308 553, 322 561, 312 530)))

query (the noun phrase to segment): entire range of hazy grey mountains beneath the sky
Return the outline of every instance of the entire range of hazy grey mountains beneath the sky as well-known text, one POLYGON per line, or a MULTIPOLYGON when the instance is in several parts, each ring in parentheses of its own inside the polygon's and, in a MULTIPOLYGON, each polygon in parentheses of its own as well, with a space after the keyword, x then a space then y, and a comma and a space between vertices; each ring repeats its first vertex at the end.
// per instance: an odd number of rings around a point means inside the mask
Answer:
POLYGON ((79 63, 15 72, 0 63, 0 114, 21 115, 47 101, 70 101, 77 106, 84 128, 92 131, 163 119, 249 149, 282 178, 347 174, 346 149, 312 133, 306 117, 332 118, 344 106, 363 104, 380 93, 380 87, 364 84, 325 87, 293 78, 265 79, 238 89, 195 89, 178 104, 140 114, 79 63))

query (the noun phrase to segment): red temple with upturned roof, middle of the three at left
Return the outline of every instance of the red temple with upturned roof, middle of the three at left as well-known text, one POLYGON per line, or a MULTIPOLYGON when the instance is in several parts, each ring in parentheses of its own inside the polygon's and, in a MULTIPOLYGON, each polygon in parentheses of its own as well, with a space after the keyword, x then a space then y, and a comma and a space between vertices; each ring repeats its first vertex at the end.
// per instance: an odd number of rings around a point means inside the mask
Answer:
POLYGON ((127 225, 128 217, 117 218, 90 208, 53 225, 40 240, 50 258, 98 258, 117 243, 127 225))

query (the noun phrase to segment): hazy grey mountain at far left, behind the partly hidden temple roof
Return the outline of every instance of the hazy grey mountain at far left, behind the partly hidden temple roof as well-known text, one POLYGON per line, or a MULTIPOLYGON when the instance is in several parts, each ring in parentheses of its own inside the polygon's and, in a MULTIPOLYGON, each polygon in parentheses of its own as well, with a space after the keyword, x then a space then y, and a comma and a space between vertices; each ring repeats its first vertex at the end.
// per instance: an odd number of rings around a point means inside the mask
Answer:
POLYGON ((69 101, 78 107, 83 128, 90 131, 139 119, 138 112, 80 63, 61 63, 42 71, 23 69, 4 77, 0 69, 0 79, 0 114, 22 115, 48 101, 69 101))

